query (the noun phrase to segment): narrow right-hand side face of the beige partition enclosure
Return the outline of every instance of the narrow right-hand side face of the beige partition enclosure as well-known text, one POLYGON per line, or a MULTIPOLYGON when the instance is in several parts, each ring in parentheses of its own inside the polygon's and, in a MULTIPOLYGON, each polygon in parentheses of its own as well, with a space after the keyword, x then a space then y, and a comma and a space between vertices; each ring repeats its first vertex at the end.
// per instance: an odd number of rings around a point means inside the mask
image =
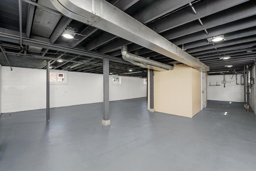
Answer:
POLYGON ((201 72, 192 70, 192 116, 196 115, 202 109, 202 85, 201 72))

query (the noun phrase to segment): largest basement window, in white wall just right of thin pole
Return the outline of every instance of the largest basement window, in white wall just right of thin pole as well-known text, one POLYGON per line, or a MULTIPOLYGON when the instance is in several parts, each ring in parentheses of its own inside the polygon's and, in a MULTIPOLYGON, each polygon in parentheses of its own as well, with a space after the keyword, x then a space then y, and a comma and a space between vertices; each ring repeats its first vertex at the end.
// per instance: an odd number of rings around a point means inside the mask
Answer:
POLYGON ((68 72, 50 70, 50 84, 68 84, 68 72))

